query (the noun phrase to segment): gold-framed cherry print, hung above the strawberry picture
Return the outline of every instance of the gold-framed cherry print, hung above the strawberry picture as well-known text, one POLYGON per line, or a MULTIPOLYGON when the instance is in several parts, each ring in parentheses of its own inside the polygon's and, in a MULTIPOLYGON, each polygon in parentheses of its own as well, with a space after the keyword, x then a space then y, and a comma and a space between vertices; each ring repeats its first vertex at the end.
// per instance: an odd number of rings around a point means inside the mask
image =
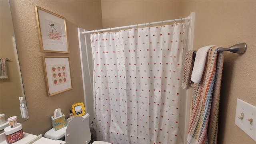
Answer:
POLYGON ((66 18, 35 6, 42 52, 69 53, 66 18))

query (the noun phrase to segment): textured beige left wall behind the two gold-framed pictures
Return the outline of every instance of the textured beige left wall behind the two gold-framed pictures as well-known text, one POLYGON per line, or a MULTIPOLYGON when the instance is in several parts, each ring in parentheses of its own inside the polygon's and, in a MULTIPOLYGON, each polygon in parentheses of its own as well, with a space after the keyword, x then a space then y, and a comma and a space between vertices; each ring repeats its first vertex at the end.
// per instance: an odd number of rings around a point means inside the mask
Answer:
POLYGON ((56 108, 69 117, 72 104, 84 102, 77 27, 102 28, 101 2, 97 0, 10 0, 20 68, 30 118, 22 122, 24 132, 44 134, 52 128, 50 116, 56 108), (70 53, 41 52, 35 5, 67 19, 70 53), (92 12, 93 11, 93 12, 92 12), (73 89, 48 97, 42 56, 70 56, 73 89))

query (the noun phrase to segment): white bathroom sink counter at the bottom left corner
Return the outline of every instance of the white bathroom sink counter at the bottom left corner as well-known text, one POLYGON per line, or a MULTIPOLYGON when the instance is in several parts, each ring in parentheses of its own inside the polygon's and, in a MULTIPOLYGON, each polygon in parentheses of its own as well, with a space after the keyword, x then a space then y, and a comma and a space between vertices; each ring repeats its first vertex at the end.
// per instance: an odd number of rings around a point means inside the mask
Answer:
MULTIPOLYGON (((37 137, 34 134, 28 134, 26 132, 24 132, 23 134, 24 134, 24 137, 22 139, 18 140, 17 142, 14 142, 12 144, 27 144, 28 142, 30 142, 31 140, 33 140, 34 138, 37 137)), ((5 140, 4 132, 0 134, 0 144, 8 144, 5 140)), ((32 143, 30 143, 30 144, 32 144, 32 143)), ((35 142, 33 142, 33 144, 61 144, 61 142, 42 137, 42 138, 36 140, 35 142)))

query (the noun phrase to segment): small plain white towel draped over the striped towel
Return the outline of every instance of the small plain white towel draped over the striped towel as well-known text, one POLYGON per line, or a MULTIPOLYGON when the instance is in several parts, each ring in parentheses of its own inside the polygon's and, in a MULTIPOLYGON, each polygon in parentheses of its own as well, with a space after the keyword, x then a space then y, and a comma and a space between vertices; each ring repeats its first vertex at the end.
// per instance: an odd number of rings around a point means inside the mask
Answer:
POLYGON ((211 47, 213 46, 204 46, 202 48, 199 48, 199 50, 196 52, 196 58, 191 75, 192 82, 199 84, 199 82, 201 81, 204 72, 207 52, 211 47))

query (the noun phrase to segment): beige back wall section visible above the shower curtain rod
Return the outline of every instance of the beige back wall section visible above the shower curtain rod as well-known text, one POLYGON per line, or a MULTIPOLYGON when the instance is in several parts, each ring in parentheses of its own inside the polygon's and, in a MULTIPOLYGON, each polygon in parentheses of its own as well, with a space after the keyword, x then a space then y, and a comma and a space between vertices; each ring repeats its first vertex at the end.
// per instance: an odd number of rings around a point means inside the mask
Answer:
POLYGON ((103 28, 181 18, 181 1, 102 0, 103 28))

